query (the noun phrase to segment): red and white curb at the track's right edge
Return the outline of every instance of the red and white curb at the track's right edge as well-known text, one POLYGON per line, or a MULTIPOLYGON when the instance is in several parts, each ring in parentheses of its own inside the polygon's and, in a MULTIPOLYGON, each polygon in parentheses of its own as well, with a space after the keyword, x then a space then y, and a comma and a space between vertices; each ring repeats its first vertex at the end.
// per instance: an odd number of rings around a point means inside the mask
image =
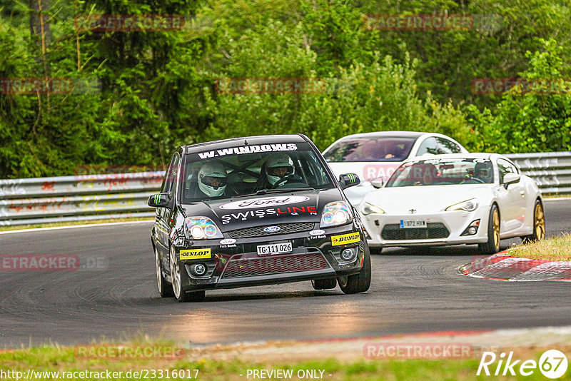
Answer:
POLYGON ((571 262, 515 258, 507 250, 477 258, 460 268, 463 275, 474 278, 530 282, 537 280, 571 281, 571 262))

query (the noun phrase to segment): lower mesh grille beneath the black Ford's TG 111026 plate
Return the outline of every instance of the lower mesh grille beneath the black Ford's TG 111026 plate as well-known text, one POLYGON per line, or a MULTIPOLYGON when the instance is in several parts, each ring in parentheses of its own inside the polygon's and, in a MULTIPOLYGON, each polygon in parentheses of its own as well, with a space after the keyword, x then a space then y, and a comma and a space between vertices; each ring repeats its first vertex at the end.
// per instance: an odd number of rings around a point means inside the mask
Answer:
MULTIPOLYGON (((309 249, 310 250, 310 249, 309 249)), ((280 255, 263 258, 230 259, 223 278, 244 278, 256 275, 296 273, 299 271, 324 270, 329 265, 319 250, 306 254, 280 255)))

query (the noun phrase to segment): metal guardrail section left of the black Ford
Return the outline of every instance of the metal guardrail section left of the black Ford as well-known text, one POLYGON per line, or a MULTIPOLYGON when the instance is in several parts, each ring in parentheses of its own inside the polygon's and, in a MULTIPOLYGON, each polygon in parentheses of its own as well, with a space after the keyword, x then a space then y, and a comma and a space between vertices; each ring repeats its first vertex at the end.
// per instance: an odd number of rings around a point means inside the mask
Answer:
POLYGON ((0 180, 0 225, 153 217, 164 171, 0 180))

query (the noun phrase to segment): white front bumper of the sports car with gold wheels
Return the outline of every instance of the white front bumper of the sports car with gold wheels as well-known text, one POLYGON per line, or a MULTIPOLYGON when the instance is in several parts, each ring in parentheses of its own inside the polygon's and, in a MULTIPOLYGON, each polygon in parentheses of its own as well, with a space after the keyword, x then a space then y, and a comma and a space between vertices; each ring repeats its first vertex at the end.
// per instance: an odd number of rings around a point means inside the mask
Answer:
POLYGON ((473 212, 453 210, 414 215, 361 214, 368 245, 375 248, 485 243, 487 241, 487 218, 487 215, 480 210, 473 212), (400 228, 400 220, 411 219, 426 220, 429 228, 416 231, 400 228), (475 220, 480 220, 477 233, 462 235, 475 220))

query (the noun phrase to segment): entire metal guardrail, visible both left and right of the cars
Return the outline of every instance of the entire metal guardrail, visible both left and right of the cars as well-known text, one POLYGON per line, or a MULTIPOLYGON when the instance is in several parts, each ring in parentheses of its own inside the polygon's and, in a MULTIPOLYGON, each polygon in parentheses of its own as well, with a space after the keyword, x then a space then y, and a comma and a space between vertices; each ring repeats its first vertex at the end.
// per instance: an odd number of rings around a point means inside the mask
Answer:
MULTIPOLYGON (((571 193, 571 152, 506 155, 542 193, 571 193)), ((152 218, 164 171, 0 180, 0 225, 152 218)))

